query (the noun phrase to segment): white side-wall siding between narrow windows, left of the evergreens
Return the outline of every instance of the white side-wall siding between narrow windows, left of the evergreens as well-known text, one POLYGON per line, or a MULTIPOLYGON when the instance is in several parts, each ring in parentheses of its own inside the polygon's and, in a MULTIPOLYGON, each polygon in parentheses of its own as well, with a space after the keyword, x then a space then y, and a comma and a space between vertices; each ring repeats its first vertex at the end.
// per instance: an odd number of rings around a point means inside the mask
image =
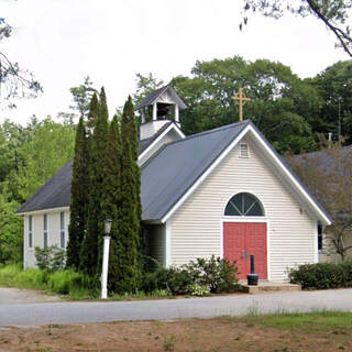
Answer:
POLYGON ((35 266, 34 249, 36 246, 44 246, 44 213, 47 215, 47 245, 57 245, 61 248, 61 211, 65 212, 65 244, 68 242, 68 223, 69 211, 68 209, 36 211, 32 213, 32 233, 33 246, 29 248, 29 222, 30 215, 24 216, 24 238, 23 238, 23 266, 35 266))

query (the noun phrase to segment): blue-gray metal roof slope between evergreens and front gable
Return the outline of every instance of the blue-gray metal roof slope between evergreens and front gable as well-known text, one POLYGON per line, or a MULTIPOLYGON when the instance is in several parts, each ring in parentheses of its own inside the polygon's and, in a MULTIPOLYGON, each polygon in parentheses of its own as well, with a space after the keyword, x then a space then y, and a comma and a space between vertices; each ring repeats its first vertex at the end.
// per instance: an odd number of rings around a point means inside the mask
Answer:
POLYGON ((142 167, 143 220, 160 220, 250 123, 234 123, 167 144, 142 167))

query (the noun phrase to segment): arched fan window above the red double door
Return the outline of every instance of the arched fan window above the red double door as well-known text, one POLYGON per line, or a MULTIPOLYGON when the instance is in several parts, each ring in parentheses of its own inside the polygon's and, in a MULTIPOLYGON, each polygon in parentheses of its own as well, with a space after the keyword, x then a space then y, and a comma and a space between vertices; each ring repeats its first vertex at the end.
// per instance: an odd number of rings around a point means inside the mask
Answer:
POLYGON ((255 196, 242 193, 229 200, 224 215, 227 217, 264 217, 264 209, 255 196))

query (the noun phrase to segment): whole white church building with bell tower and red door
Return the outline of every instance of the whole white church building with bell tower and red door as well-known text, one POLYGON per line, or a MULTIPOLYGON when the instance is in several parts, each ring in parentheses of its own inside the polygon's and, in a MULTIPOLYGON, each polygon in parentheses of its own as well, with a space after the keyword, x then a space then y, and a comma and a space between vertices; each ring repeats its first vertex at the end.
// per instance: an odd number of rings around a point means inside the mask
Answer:
MULTIPOLYGON (((165 266, 212 254, 237 260, 240 278, 254 254, 260 279, 270 280, 318 262, 318 224, 331 219, 256 127, 246 120, 185 136, 185 107, 170 86, 136 107, 148 254, 165 266)), ((18 210, 25 267, 35 265, 34 246, 66 246, 70 177, 68 162, 18 210)))

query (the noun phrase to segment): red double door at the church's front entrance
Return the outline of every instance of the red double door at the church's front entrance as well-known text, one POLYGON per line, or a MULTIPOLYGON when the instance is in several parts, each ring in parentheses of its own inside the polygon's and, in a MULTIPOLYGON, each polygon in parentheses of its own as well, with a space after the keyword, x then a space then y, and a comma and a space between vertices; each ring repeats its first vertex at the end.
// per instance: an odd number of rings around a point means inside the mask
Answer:
POLYGON ((239 278, 245 279, 251 273, 251 255, 255 256, 255 274, 267 278, 266 223, 224 222, 223 256, 237 261, 239 278))

